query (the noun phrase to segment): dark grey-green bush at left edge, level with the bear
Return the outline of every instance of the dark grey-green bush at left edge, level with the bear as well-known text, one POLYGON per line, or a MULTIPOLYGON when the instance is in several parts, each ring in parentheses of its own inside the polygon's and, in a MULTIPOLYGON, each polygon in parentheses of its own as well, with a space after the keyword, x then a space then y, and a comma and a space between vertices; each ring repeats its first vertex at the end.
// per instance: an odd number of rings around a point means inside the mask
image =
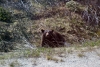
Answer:
POLYGON ((9 31, 0 31, 0 52, 8 52, 15 48, 15 45, 12 42, 12 32, 9 31))

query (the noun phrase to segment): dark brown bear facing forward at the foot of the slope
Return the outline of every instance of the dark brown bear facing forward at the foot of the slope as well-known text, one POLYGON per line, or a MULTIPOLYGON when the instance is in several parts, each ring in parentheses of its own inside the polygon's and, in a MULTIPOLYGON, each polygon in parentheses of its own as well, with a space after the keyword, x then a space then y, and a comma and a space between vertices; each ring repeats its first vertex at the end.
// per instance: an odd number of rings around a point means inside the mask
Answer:
POLYGON ((65 39, 61 34, 54 30, 41 30, 42 32, 42 47, 62 47, 64 46, 65 39))

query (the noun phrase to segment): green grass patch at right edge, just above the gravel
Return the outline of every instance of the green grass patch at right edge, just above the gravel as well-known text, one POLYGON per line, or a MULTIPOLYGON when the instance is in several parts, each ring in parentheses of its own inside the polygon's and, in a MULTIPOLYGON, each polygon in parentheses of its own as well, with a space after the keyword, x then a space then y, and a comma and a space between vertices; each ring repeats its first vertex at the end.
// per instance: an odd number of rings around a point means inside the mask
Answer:
MULTIPOLYGON (((93 50, 95 48, 99 48, 100 47, 100 39, 87 40, 87 41, 82 42, 82 43, 75 43, 71 47, 74 47, 74 50, 84 51, 84 48, 86 48, 86 50, 90 50, 91 51, 91 50, 93 50)), ((70 53, 70 50, 68 52, 70 53)))

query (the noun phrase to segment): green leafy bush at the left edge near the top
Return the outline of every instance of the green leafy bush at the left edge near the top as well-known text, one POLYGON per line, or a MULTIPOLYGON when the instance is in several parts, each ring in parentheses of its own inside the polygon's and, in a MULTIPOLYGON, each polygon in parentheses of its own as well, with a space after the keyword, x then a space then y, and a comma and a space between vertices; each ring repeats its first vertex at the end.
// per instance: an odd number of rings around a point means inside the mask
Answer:
POLYGON ((12 22, 11 13, 0 7, 0 21, 4 21, 7 23, 12 22))

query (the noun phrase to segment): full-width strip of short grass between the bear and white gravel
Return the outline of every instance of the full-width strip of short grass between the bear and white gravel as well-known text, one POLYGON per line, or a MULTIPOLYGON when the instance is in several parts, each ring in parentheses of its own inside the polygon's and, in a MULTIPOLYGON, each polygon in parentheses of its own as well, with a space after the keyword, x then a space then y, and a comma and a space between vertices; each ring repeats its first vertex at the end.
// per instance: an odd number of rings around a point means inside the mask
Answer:
MULTIPOLYGON (((79 51, 83 53, 87 51, 93 51, 95 48, 99 48, 99 47, 100 47, 100 40, 95 40, 95 41, 84 42, 83 44, 81 44, 81 46, 74 45, 68 48, 67 47, 61 47, 61 48, 40 47, 37 49, 15 50, 15 51, 8 52, 8 53, 2 53, 2 55, 0 55, 0 60, 10 59, 14 57, 38 58, 41 56, 46 57, 49 60, 53 56, 65 57, 67 53, 72 54, 74 51, 79 51)), ((83 57, 84 55, 82 53, 79 53, 78 56, 83 57)), ((100 55, 99 53, 97 54, 98 56, 100 55)))

